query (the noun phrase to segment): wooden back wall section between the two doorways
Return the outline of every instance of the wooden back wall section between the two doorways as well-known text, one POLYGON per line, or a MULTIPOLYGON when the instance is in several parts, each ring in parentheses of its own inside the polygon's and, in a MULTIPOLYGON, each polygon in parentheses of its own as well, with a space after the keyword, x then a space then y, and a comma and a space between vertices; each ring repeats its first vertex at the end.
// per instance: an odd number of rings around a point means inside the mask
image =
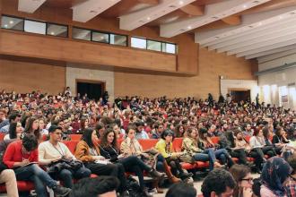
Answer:
POLYGON ((209 92, 214 98, 219 96, 219 76, 226 79, 256 80, 253 72, 256 62, 244 58, 217 54, 205 48, 199 51, 199 71, 197 76, 172 76, 145 73, 115 73, 115 96, 169 98, 194 96, 206 98, 209 92))

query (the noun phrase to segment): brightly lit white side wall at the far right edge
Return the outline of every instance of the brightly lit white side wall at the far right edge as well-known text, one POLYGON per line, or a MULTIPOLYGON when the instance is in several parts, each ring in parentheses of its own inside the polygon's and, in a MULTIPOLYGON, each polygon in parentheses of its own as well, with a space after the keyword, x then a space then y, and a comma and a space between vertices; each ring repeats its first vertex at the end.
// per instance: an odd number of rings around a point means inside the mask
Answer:
MULTIPOLYGON (((296 54, 274 58, 270 61, 261 63, 258 65, 258 70, 264 71, 266 69, 294 62, 296 62, 296 54)), ((263 101, 276 106, 296 109, 296 92, 295 85, 293 85, 293 83, 296 82, 295 76, 296 67, 258 76, 258 85, 261 90, 263 101), (284 92, 287 92, 288 102, 282 102, 283 90, 284 92)))

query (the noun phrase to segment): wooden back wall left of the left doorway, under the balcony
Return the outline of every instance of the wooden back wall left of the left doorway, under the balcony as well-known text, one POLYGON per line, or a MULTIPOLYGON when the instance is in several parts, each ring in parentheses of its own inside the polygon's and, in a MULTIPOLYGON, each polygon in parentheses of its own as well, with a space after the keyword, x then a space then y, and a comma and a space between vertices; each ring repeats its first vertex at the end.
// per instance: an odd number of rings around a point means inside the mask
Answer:
POLYGON ((41 90, 57 94, 65 90, 65 67, 13 61, 0 57, 0 90, 20 93, 41 90))

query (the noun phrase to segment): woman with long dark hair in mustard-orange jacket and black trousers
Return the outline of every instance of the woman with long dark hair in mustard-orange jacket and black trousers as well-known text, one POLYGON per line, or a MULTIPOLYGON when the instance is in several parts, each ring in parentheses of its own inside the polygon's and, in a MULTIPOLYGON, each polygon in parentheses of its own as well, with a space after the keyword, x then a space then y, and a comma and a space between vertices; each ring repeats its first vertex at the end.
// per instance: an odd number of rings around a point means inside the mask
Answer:
POLYGON ((83 161, 85 167, 91 169, 93 174, 118 177, 120 180, 118 193, 127 197, 125 167, 120 163, 112 164, 106 158, 100 156, 98 141, 99 138, 95 129, 85 129, 82 141, 79 141, 76 146, 75 157, 83 161))

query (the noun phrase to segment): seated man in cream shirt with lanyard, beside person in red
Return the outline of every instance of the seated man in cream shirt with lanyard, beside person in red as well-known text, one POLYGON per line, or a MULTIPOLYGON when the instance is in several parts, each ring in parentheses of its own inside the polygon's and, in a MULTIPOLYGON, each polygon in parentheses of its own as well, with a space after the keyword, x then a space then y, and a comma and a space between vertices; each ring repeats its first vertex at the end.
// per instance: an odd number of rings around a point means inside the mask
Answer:
POLYGON ((52 124, 49 129, 49 140, 39 144, 39 164, 54 168, 53 172, 48 172, 51 177, 62 180, 65 187, 73 187, 73 178, 80 179, 91 176, 91 170, 83 165, 75 166, 65 163, 65 159, 70 162, 75 161, 74 155, 62 141, 62 127, 52 124), (60 169, 59 169, 60 167, 60 169))

